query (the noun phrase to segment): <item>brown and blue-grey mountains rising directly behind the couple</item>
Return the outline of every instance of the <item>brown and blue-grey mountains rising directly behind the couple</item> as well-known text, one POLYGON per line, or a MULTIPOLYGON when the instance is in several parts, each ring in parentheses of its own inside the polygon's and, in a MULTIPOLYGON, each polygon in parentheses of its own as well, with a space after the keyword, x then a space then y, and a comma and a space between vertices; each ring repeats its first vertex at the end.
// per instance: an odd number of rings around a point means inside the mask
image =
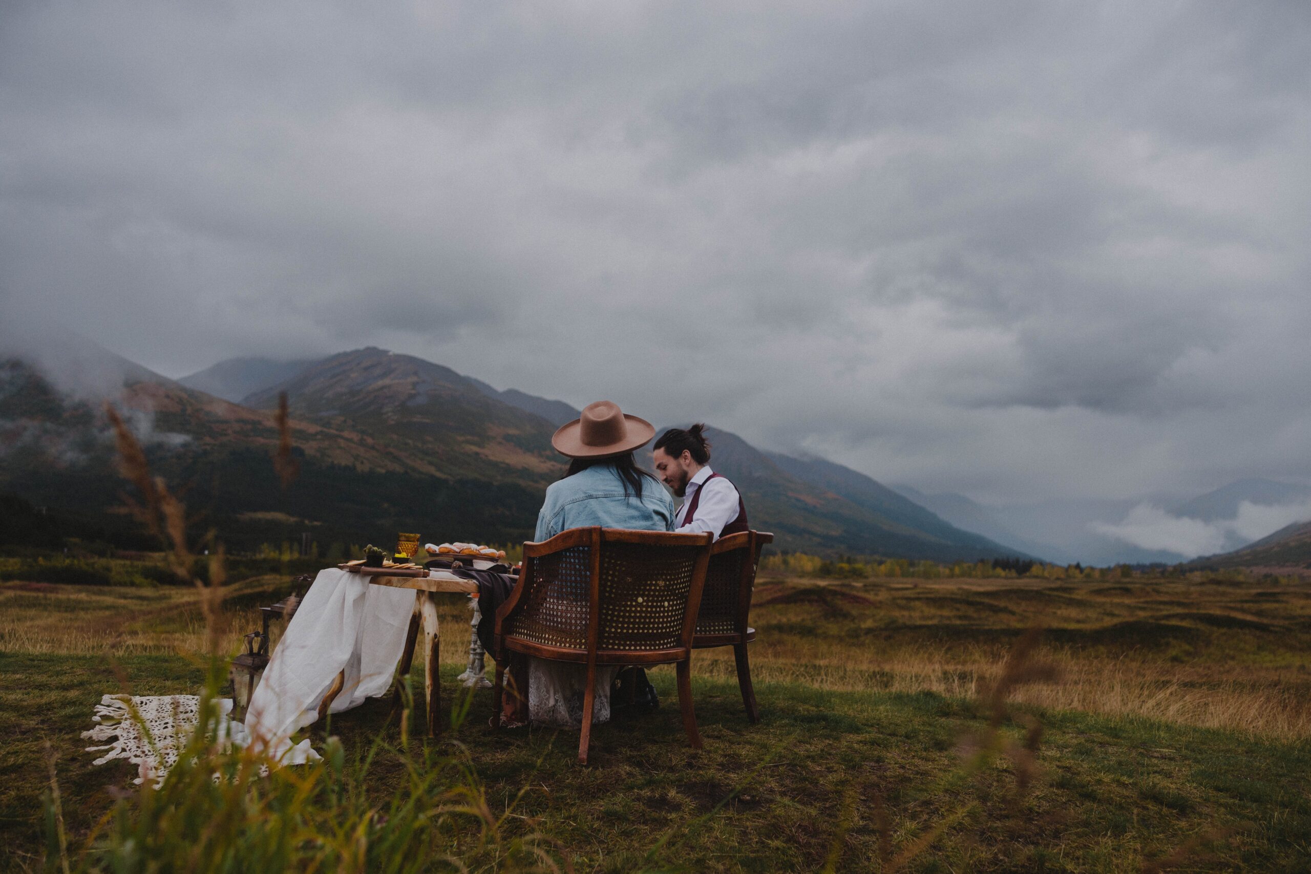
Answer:
MULTIPOLYGON (((198 528, 233 548, 304 531, 321 542, 385 542, 401 529, 526 540, 543 490, 564 472, 551 435, 578 415, 562 401, 497 390, 374 347, 298 362, 229 359, 177 381, 109 352, 98 366, 122 375, 110 400, 142 435, 153 469, 185 487, 198 528), (283 393, 300 466, 286 489, 271 461, 283 393)), ((0 422, 0 490, 71 518, 128 524, 100 401, 8 359, 0 422)), ((767 455, 717 428, 708 435, 714 468, 780 549, 937 561, 1023 552, 961 531, 848 468, 767 455)))

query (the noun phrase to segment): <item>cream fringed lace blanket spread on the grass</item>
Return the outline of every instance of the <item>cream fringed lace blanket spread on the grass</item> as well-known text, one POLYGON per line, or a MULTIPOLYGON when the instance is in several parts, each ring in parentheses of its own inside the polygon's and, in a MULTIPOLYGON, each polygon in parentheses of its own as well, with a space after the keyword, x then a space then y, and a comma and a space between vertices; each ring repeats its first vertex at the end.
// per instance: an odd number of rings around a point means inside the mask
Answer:
MULTIPOLYGON (((206 735, 206 740, 225 751, 233 746, 245 747, 249 743, 245 726, 228 717, 232 713, 232 698, 219 698, 215 704, 219 709, 216 729, 206 735)), ((100 725, 84 731, 81 736, 104 744, 87 747, 87 752, 108 751, 96 760, 97 765, 113 759, 127 759, 136 765, 138 777, 134 784, 153 780, 159 786, 195 732, 199 709, 201 700, 194 694, 106 694, 96 705, 96 714, 92 717, 100 725)), ((295 746, 288 743, 282 752, 278 759, 284 765, 319 759, 308 739, 295 746)), ((261 773, 267 772, 261 769, 261 773)))

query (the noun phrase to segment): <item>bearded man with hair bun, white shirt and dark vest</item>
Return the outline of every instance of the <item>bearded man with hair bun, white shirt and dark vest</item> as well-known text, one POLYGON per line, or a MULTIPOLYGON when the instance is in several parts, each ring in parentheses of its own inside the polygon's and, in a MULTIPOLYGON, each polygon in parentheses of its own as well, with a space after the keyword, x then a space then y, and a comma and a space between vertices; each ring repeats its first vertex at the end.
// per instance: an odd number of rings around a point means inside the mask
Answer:
POLYGON ((711 444, 704 431, 704 425, 665 431, 652 449, 652 463, 665 485, 683 498, 674 519, 675 531, 708 531, 718 540, 750 531, 751 525, 737 486, 711 470, 711 444))

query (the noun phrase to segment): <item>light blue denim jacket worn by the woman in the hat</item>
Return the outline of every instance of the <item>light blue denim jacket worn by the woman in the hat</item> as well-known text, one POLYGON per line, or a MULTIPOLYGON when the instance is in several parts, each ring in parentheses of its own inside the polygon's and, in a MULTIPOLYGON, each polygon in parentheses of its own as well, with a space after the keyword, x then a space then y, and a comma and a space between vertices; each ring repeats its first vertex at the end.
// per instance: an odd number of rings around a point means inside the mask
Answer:
POLYGON ((674 499, 659 480, 642 477, 642 497, 608 464, 598 464, 552 482, 538 514, 535 540, 555 537, 569 528, 602 525, 638 531, 674 531, 674 499))

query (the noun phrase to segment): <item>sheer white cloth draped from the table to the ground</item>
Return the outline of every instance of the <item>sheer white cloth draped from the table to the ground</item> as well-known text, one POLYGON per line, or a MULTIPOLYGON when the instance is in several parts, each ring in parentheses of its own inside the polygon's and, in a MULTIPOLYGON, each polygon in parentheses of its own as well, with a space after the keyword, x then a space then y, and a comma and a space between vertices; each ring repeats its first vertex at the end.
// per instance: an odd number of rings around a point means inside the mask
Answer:
POLYGON ((250 697, 252 743, 274 759, 286 755, 292 732, 319 718, 319 702, 342 671, 346 684, 332 713, 384 694, 413 611, 412 590, 371 586, 368 577, 336 567, 319 571, 250 697))

